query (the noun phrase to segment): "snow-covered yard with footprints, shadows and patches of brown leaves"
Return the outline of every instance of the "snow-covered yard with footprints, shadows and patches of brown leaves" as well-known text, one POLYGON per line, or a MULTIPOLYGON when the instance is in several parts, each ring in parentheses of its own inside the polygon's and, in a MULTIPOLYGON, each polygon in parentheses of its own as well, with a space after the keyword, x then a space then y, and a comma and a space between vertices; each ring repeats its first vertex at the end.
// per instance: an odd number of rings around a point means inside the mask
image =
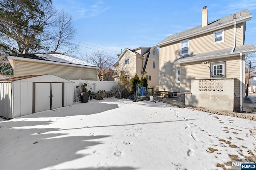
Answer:
POLYGON ((248 119, 162 102, 90 100, 0 119, 0 169, 231 168, 231 161, 255 161, 254 128, 248 119))

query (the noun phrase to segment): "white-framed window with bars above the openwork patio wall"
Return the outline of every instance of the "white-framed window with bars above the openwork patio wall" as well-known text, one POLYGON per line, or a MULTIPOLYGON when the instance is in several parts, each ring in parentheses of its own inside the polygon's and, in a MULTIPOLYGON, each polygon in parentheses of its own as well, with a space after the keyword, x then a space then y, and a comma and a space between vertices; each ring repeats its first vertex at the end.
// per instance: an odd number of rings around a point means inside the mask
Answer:
POLYGON ((226 78, 226 62, 211 63, 212 78, 226 78))

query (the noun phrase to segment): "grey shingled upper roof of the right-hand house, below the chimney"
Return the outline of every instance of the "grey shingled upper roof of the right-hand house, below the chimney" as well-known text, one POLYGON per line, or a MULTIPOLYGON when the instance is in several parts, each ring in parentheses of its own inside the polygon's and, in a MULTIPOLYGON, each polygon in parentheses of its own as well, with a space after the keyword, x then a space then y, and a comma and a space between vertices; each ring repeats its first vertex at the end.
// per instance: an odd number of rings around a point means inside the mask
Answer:
POLYGON ((234 22, 238 24, 244 21, 251 20, 252 18, 252 14, 248 10, 242 10, 240 12, 236 12, 235 14, 236 14, 236 19, 234 20, 233 20, 233 14, 231 14, 229 16, 220 18, 218 20, 208 22, 208 25, 204 27, 200 25, 198 27, 194 27, 192 29, 188 29, 186 31, 182 31, 180 33, 170 35, 169 37, 167 37, 166 39, 158 43, 156 46, 166 45, 168 43, 173 43, 176 41, 188 39, 189 37, 192 37, 192 36, 201 35, 217 29, 222 29, 223 27, 234 25, 234 22))

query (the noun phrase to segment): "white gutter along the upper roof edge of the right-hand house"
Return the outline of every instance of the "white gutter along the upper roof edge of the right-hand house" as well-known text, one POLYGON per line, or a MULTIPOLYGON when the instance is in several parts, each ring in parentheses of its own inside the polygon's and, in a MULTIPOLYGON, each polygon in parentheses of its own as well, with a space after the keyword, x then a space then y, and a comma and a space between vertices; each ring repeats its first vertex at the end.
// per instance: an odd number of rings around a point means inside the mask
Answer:
MULTIPOLYGON (((246 18, 236 19, 236 22, 237 22, 237 23, 246 22, 246 21, 251 20, 251 18, 252 18, 252 15, 247 16, 246 18)), ((211 31, 214 31, 214 30, 217 30, 217 29, 222 29, 222 28, 224 28, 224 27, 226 27, 226 26, 228 26, 228 25, 230 25, 230 26, 233 25, 233 24, 232 24, 233 22, 234 22, 234 21, 231 21, 231 22, 228 22, 228 23, 223 24, 223 25, 221 24, 221 25, 217 25, 217 26, 215 26, 215 27, 210 27, 210 28, 208 28, 208 29, 203 29, 203 30, 201 30, 201 31, 198 31, 198 32, 195 32, 195 33, 191 33, 191 34, 188 34, 188 35, 185 35, 185 36, 182 36, 182 37, 178 37, 178 38, 176 38, 176 39, 171 39, 171 40, 166 41, 166 42, 163 42, 163 43, 158 43, 158 44, 156 44, 155 46, 158 47, 158 46, 166 45, 166 44, 173 43, 173 42, 176 42, 176 41, 181 41, 181 40, 183 40, 183 39, 188 39, 188 38, 190 38, 190 37, 194 37, 194 36, 197 36, 197 35, 201 35, 201 34, 204 34, 204 33, 208 33, 208 32, 211 32, 211 31)))

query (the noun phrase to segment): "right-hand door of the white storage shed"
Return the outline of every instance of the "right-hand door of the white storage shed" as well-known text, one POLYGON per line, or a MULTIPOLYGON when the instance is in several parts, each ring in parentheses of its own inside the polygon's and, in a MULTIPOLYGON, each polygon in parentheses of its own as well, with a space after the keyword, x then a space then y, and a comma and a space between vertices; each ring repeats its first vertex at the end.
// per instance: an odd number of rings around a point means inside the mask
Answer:
POLYGON ((52 109, 62 107, 62 83, 52 83, 52 109))

